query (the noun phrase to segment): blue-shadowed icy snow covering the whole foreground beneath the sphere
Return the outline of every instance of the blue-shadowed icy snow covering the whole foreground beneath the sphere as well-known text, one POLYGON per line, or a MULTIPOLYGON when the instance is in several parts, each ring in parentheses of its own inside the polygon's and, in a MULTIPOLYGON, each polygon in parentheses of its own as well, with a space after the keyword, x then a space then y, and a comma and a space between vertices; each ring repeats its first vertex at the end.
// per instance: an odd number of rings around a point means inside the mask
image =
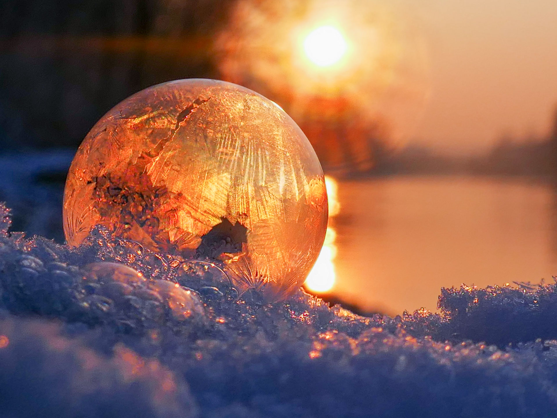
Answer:
POLYGON ((555 284, 443 289, 439 314, 364 318, 301 290, 238 295, 218 266, 102 229, 70 250, 7 226, 4 415, 557 414, 555 284))

